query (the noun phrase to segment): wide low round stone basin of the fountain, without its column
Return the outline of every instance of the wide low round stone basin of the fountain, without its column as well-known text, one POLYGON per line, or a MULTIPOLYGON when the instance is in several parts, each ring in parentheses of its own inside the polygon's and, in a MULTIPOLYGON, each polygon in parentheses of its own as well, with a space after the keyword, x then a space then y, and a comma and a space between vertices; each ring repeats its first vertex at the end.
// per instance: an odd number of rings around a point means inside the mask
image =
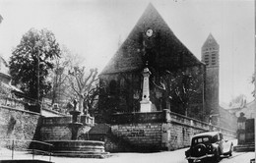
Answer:
POLYGON ((53 144, 54 156, 105 158, 109 156, 104 150, 103 141, 94 140, 46 140, 53 144))

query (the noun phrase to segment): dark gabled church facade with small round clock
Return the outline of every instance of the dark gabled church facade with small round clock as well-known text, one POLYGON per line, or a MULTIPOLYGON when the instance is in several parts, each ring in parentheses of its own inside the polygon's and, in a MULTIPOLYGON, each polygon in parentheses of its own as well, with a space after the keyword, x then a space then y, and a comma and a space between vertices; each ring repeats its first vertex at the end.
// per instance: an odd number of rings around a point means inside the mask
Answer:
POLYGON ((145 67, 152 73, 152 111, 168 109, 208 121, 206 65, 174 35, 152 4, 99 76, 96 119, 107 122, 111 114, 140 110, 145 67))

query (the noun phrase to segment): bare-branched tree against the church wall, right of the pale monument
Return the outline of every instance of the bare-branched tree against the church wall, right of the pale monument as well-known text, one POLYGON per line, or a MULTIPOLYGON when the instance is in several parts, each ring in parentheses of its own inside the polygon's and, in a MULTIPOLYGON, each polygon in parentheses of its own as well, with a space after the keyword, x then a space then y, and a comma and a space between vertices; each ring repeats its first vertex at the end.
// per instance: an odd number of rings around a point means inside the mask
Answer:
POLYGON ((158 87, 164 89, 168 101, 174 112, 188 116, 189 105, 202 103, 196 101, 203 91, 203 78, 200 69, 195 67, 193 71, 176 70, 165 71, 161 77, 158 87))

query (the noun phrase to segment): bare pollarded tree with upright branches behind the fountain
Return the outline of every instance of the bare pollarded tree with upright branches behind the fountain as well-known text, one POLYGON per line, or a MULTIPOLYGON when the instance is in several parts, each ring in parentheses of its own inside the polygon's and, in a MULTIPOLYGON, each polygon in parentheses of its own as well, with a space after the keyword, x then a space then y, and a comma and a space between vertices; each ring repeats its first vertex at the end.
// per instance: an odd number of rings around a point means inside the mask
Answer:
MULTIPOLYGON (((74 67, 69 71, 71 88, 76 93, 79 103, 79 111, 88 114, 88 108, 84 107, 84 102, 92 100, 96 93, 97 69, 91 69, 87 74, 86 68, 74 67)), ((91 105, 92 103, 88 103, 91 105)))

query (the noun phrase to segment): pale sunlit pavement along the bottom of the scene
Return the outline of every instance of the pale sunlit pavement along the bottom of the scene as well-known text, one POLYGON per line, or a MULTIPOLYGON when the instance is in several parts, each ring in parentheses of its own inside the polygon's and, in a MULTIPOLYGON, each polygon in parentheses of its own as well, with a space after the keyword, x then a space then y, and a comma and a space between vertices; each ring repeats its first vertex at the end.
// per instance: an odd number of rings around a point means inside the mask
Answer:
MULTIPOLYGON (((187 163, 185 151, 188 148, 174 151, 161 151, 154 153, 111 153, 111 156, 104 159, 98 158, 72 158, 72 157, 49 157, 29 154, 26 151, 14 151, 0 148, 0 160, 12 159, 38 159, 52 161, 55 163, 187 163)), ((220 163, 250 163, 254 158, 254 152, 233 152, 231 157, 224 157, 220 163)), ((1 163, 1 161, 0 161, 1 163)))

